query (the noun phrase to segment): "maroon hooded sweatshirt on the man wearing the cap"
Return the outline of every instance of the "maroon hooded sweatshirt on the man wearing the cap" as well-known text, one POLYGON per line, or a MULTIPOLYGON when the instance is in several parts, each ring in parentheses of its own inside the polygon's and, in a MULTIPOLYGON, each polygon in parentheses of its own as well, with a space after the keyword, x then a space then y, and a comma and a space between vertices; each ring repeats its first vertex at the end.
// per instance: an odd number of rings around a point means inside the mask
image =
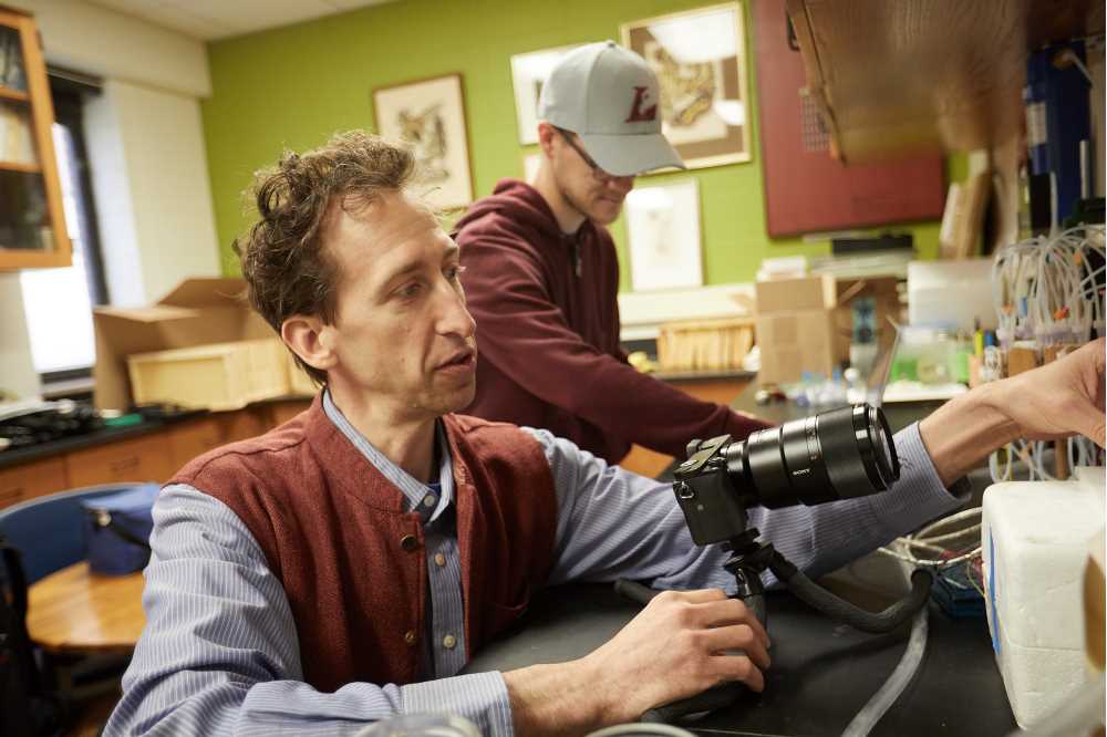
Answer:
POLYGON ((454 238, 480 351, 466 414, 546 428, 612 464, 632 443, 683 458, 692 438, 765 427, 627 363, 604 228, 586 221, 565 235, 536 189, 504 179, 454 238))

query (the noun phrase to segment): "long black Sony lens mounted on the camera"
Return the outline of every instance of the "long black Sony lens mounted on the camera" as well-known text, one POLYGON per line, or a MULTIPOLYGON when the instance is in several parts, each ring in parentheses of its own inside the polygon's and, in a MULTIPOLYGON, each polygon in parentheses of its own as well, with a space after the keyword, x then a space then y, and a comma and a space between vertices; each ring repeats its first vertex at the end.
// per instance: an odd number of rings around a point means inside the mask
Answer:
POLYGON ((748 506, 789 507, 863 497, 899 478, 883 413, 842 407, 758 430, 725 450, 726 468, 748 506))

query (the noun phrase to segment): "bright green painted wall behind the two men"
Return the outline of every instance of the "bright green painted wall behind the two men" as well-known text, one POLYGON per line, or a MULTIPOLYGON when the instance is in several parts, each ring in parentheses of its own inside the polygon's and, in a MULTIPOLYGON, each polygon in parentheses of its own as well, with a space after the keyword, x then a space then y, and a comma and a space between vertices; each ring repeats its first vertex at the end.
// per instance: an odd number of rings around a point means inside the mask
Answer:
MULTIPOLYGON (((248 224, 241 193, 251 173, 275 163, 282 148, 302 150, 337 131, 371 128, 374 87, 463 74, 474 187, 482 196, 501 177, 523 176, 524 154, 536 150, 518 144, 513 54, 618 41, 622 22, 707 4, 710 0, 403 0, 211 43, 214 93, 203 104, 203 116, 225 271, 238 272, 230 242, 248 224)), ((748 6, 745 11, 752 58, 748 6)), ((766 233, 756 72, 749 77, 753 160, 692 175, 700 180, 708 284, 752 281, 765 257, 829 252, 828 242, 770 239, 766 233)), ((956 177, 955 169, 962 167, 952 168, 956 177)), ((640 181, 686 176, 656 175, 640 181)), ((920 255, 933 258, 938 222, 909 229, 920 255)), ((623 224, 617 222, 612 231, 624 259, 623 224)), ((624 268, 622 289, 629 289, 629 273, 624 268)))

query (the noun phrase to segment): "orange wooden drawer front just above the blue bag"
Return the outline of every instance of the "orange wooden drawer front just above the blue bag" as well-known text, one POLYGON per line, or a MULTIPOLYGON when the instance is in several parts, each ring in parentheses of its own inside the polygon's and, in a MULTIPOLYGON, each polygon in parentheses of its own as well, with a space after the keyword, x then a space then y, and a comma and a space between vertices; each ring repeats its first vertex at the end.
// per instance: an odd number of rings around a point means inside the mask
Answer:
POLYGON ((97 445, 65 456, 74 488, 121 481, 166 481, 174 471, 168 444, 161 434, 97 445))

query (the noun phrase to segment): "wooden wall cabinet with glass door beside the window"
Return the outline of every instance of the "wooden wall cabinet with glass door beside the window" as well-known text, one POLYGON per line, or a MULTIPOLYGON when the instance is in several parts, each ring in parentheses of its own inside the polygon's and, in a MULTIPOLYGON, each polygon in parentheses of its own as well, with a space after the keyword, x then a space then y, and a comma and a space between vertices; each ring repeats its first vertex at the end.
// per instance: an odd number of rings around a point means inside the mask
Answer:
POLYGON ((71 263, 34 19, 0 9, 0 271, 71 263))

